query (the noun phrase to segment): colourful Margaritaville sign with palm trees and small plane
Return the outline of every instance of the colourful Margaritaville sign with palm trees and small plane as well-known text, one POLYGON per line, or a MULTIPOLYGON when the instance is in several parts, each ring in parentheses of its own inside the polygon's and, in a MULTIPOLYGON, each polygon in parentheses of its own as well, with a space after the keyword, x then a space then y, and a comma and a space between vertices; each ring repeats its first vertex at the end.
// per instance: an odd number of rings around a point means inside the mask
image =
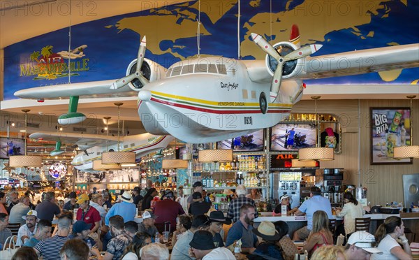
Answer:
POLYGON ((20 65, 20 77, 34 76, 33 80, 55 80, 57 78, 68 77, 68 59, 70 62, 71 76, 80 75, 80 71, 89 71, 89 59, 83 58, 84 48, 79 48, 70 52, 52 52, 52 45, 47 45, 41 49, 41 52, 34 51, 29 56, 30 63, 20 65), (73 61, 74 60, 74 61, 73 61))

